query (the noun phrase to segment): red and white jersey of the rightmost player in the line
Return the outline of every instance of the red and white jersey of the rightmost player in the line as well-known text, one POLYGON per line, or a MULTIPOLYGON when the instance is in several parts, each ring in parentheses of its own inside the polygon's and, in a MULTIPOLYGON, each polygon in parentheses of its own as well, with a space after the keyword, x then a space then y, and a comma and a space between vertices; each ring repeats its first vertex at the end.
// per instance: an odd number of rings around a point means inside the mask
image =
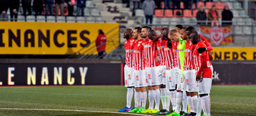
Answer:
POLYGON ((211 63, 209 59, 209 53, 208 51, 205 51, 199 54, 197 49, 201 47, 206 47, 203 41, 200 41, 196 45, 194 45, 193 62, 195 66, 195 71, 197 76, 201 76, 201 74, 203 74, 204 78, 211 78, 212 71, 210 70, 211 63), (207 63, 201 64, 202 61, 206 61, 207 63))

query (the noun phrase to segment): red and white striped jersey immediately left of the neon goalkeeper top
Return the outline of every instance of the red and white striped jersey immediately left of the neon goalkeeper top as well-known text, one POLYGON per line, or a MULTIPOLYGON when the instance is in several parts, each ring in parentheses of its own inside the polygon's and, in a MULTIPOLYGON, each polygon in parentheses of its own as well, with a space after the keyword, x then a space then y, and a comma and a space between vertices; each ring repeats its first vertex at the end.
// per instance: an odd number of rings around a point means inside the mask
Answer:
MULTIPOLYGON (((173 41, 172 41, 172 45, 174 45, 173 41)), ((169 48, 167 46, 167 42, 164 45, 164 52, 165 52, 164 55, 166 58, 166 69, 170 70, 175 67, 175 55, 174 55, 174 52, 172 51, 172 47, 169 48)))

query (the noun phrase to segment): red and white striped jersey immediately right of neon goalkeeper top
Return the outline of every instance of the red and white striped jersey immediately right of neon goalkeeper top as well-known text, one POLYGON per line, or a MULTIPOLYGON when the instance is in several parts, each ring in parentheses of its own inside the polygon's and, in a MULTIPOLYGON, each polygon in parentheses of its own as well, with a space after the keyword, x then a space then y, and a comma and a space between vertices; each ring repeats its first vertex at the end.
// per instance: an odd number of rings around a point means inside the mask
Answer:
POLYGON ((192 44, 192 42, 190 42, 190 39, 188 39, 185 47, 184 71, 194 69, 194 64, 192 62, 193 52, 194 52, 194 45, 192 44))

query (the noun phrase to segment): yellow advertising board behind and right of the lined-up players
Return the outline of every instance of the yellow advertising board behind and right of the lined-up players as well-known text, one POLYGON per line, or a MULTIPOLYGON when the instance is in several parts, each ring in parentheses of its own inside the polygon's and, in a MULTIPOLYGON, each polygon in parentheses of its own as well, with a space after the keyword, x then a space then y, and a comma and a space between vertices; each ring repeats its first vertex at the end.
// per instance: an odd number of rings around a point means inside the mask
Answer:
POLYGON ((214 60, 256 60, 256 47, 254 48, 221 48, 213 47, 214 60))

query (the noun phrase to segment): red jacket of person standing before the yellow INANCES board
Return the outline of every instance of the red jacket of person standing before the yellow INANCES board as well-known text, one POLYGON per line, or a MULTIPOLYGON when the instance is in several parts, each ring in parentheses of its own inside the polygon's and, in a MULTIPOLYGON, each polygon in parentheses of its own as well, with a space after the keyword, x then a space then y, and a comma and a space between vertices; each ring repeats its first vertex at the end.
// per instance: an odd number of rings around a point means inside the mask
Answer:
POLYGON ((96 47, 97 47, 97 52, 106 52, 106 36, 104 34, 99 34, 96 38, 96 47), (103 45, 102 45, 103 44, 103 45), (100 46, 100 47, 98 47, 100 46))

